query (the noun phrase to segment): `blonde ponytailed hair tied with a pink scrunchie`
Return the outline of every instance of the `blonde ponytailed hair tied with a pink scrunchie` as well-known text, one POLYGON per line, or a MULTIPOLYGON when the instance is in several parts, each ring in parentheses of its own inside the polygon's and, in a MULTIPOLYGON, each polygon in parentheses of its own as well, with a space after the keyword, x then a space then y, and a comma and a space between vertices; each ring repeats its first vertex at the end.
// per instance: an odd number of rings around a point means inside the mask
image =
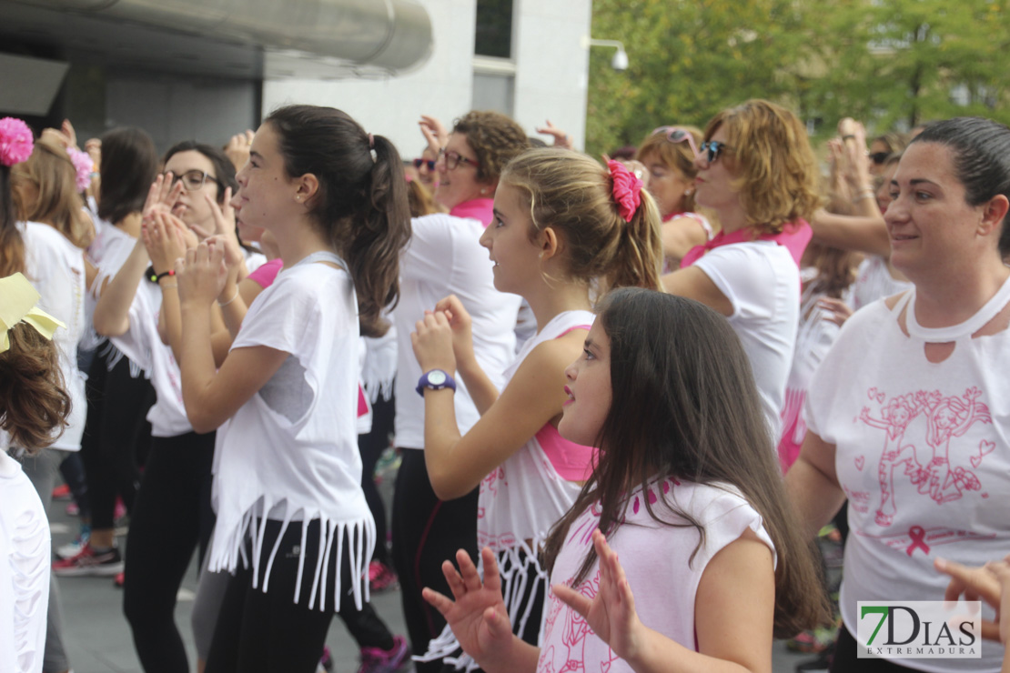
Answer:
POLYGON ((550 227, 565 242, 570 277, 598 279, 600 290, 661 288, 660 212, 644 190, 630 222, 618 212, 610 172, 585 154, 530 149, 505 169, 501 182, 523 193, 530 238, 550 227))

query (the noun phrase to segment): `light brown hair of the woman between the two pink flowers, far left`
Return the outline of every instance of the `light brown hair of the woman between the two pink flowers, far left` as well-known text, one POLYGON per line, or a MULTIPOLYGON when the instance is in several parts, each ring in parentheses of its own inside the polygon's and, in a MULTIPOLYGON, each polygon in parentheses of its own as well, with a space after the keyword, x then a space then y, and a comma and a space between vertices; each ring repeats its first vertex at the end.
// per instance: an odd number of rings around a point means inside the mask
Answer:
POLYGON ((91 243, 95 230, 84 214, 84 201, 77 191, 77 170, 63 147, 36 142, 31 156, 11 172, 11 178, 14 188, 27 182, 38 191, 31 204, 23 203, 18 189, 13 191, 19 219, 49 224, 80 248, 91 243))

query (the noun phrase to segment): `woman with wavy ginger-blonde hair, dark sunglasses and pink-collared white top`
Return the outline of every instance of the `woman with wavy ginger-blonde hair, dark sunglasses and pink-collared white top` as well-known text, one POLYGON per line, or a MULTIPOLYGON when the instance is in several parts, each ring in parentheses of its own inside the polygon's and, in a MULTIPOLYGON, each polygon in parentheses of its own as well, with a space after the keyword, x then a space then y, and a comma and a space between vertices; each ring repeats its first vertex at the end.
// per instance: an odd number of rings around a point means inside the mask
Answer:
POLYGON ((715 212, 722 231, 692 249, 664 285, 727 317, 777 442, 799 320, 799 263, 811 236, 806 219, 820 201, 814 153, 796 115, 749 100, 712 118, 695 165, 695 200, 715 212))

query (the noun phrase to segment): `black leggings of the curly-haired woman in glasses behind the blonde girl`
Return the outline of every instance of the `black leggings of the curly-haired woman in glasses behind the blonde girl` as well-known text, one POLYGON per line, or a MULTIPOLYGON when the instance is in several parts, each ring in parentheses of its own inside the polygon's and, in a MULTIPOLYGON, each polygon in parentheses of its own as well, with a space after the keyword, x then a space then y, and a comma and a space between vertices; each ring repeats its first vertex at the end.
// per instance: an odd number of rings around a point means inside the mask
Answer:
MULTIPOLYGON (((393 563, 400 577, 403 615, 415 655, 427 652, 445 620, 421 597, 428 586, 452 595, 441 571, 442 561, 466 549, 477 559, 477 497, 479 488, 454 500, 439 500, 428 480, 424 452, 403 449, 393 494, 393 563)), ((442 663, 415 662, 417 673, 441 670, 442 663)))

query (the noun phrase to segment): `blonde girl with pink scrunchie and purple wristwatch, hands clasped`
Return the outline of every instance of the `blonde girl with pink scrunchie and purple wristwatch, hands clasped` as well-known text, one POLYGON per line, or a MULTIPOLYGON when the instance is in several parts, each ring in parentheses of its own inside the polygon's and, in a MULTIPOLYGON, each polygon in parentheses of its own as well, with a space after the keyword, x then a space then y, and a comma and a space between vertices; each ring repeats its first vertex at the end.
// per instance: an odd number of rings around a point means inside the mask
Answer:
MULTIPOLYGON (((505 370, 499 390, 477 364, 467 309, 447 297, 417 322, 414 352, 426 372, 425 461, 431 485, 451 499, 480 484, 478 542, 502 569, 514 633, 535 645, 542 631, 547 573, 539 558, 551 526, 593 470, 590 446, 558 434, 568 400, 565 368, 583 352, 593 298, 610 288, 658 289, 660 215, 641 182, 616 161, 554 149, 524 152, 505 169, 495 219, 481 243, 495 287, 521 295, 538 331, 505 370), (463 377, 481 419, 461 435, 452 376, 463 377)), ((458 647, 450 630, 429 658, 458 647)), ((475 668, 469 656, 460 668, 475 668)))

